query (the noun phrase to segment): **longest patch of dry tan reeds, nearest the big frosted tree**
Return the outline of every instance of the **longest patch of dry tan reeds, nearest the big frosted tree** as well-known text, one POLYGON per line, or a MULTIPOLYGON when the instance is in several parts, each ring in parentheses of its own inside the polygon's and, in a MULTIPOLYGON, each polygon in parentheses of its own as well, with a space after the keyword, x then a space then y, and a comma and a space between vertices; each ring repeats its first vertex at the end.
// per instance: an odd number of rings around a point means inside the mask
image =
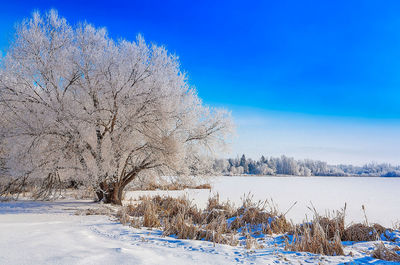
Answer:
POLYGON ((121 223, 130 223, 135 227, 159 227, 164 235, 181 239, 207 240, 235 246, 239 244, 238 231, 241 230, 247 231, 246 247, 260 248, 255 234, 284 233, 292 229, 284 215, 277 216, 276 209, 268 212, 265 203, 253 203, 249 196, 244 197, 242 207, 238 209, 229 201, 220 202, 218 194, 208 199, 204 210, 199 210, 184 197, 144 196, 140 200, 136 205, 128 205, 119 212, 121 223), (262 231, 252 227, 262 227, 262 231))

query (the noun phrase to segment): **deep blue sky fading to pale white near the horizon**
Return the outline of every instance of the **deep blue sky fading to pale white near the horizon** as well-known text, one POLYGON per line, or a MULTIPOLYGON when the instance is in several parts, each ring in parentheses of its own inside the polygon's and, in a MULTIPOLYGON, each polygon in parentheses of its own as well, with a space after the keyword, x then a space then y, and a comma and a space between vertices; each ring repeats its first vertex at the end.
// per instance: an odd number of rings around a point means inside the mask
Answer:
POLYGON ((205 103, 232 110, 231 156, 400 164, 398 1, 2 2, 1 50, 50 8, 164 44, 205 103))

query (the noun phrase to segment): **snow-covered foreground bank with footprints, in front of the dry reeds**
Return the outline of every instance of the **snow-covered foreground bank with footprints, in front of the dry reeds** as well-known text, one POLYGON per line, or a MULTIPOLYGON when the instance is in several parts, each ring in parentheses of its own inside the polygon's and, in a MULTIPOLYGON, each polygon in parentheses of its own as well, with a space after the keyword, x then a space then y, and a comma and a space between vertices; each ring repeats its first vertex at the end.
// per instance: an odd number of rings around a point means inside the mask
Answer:
POLYGON ((279 236, 266 248, 213 246, 210 242, 162 237, 158 230, 123 226, 107 216, 78 216, 76 209, 102 207, 87 201, 0 204, 0 264, 340 264, 374 262, 363 251, 354 257, 324 257, 283 250, 279 236))

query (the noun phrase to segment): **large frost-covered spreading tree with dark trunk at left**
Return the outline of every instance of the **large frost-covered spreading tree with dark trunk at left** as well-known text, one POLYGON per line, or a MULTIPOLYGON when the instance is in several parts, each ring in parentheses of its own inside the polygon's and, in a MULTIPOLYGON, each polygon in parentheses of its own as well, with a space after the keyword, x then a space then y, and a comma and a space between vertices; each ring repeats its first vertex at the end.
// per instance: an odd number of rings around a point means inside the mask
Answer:
POLYGON ((54 10, 17 26, 0 58, 0 111, 10 180, 51 189, 72 178, 115 204, 139 175, 193 174, 232 127, 164 47, 141 36, 114 41, 54 10))

